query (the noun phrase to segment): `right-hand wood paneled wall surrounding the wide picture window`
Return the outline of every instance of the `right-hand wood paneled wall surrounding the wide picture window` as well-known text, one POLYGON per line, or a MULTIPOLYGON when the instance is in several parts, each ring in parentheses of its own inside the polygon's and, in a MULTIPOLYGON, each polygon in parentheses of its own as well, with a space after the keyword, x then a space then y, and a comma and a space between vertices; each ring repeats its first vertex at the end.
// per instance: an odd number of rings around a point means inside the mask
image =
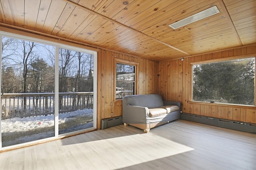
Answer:
POLYGON ((191 102, 191 64, 192 62, 220 59, 256 53, 256 45, 241 47, 216 53, 162 61, 159 63, 159 93, 165 100, 182 102, 182 111, 234 121, 256 123, 256 107, 191 102))

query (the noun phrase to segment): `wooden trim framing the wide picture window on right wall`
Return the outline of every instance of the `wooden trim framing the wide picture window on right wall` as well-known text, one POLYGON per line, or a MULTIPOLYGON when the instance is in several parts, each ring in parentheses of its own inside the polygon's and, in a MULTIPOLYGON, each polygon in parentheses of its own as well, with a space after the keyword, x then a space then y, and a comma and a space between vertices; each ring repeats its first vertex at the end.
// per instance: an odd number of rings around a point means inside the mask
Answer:
MULTIPOLYGON (((256 107, 256 69, 255 69, 255 77, 254 77, 254 106, 249 106, 249 105, 240 105, 240 104, 224 104, 224 103, 209 103, 209 102, 202 102, 202 101, 193 101, 193 65, 196 64, 206 64, 206 63, 214 63, 214 62, 219 62, 219 61, 229 61, 229 60, 235 60, 235 59, 245 59, 245 58, 253 58, 256 61, 256 53, 252 54, 247 54, 247 55, 238 55, 238 56, 233 56, 233 57, 225 57, 225 58, 220 58, 220 59, 211 59, 211 60, 204 60, 204 61, 198 61, 198 62, 191 62, 190 63, 190 69, 191 69, 191 76, 190 76, 190 97, 189 97, 189 103, 203 103, 203 104, 209 104, 209 105, 221 105, 221 106, 244 106, 245 108, 251 108, 251 107, 256 107)), ((256 68, 256 62, 255 62, 255 68, 256 68)))

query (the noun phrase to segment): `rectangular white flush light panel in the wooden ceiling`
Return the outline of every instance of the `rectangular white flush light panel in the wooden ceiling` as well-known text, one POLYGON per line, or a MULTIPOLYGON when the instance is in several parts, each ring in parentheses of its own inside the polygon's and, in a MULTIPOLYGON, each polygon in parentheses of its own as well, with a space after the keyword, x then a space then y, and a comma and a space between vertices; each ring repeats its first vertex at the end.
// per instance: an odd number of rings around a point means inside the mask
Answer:
POLYGON ((184 18, 183 20, 172 23, 172 24, 169 25, 169 27, 171 27, 173 29, 177 29, 177 28, 183 27, 184 25, 188 25, 188 24, 193 23, 195 21, 199 21, 199 20, 202 20, 202 19, 207 18, 209 16, 212 16, 214 14, 218 14, 219 12, 220 11, 217 8, 217 6, 213 6, 211 8, 206 9, 206 10, 198 12, 198 13, 192 15, 192 16, 184 18))

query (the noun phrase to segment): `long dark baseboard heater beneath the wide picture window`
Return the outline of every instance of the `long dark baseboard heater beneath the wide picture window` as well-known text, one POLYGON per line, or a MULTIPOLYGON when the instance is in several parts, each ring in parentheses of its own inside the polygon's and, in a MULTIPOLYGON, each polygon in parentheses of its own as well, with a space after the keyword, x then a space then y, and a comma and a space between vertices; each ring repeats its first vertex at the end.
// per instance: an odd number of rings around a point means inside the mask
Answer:
POLYGON ((253 124, 253 123, 219 119, 215 117, 194 115, 190 113, 181 113, 180 119, 256 134, 256 124, 253 124))

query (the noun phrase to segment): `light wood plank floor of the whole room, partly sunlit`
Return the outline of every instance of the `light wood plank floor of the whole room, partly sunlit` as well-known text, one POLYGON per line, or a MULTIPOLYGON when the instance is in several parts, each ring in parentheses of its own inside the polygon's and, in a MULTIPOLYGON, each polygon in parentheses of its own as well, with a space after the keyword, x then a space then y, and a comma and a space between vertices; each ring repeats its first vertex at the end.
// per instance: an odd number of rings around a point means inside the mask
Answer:
POLYGON ((0 153, 1 170, 256 170, 256 135, 174 121, 118 125, 0 153))

